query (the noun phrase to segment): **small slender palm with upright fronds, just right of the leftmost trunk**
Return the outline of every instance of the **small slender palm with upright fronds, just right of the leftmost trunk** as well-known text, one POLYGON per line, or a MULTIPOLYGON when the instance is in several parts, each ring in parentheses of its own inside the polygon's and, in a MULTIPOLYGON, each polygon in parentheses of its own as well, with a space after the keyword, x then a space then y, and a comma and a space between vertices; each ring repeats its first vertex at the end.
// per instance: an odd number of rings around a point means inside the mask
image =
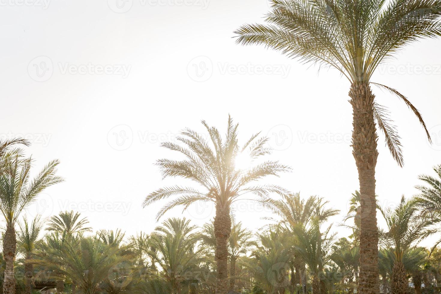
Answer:
POLYGON ((19 224, 19 227, 20 231, 17 235, 18 248, 25 256, 25 293, 31 294, 31 279, 34 275, 34 266, 28 261, 33 258, 35 245, 43 223, 40 221, 40 216, 35 217, 31 223, 26 218, 23 218, 23 224, 19 224))

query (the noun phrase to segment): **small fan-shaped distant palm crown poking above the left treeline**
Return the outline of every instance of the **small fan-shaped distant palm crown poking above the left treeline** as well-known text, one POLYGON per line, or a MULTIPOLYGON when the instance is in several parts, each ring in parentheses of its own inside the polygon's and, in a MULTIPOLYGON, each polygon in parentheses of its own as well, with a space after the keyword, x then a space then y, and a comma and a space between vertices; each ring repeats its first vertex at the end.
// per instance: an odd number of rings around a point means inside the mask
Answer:
POLYGON ((59 232, 60 234, 73 235, 91 231, 86 227, 89 221, 86 217, 80 219, 81 213, 74 211, 60 212, 58 216, 52 216, 49 219, 46 231, 59 232))

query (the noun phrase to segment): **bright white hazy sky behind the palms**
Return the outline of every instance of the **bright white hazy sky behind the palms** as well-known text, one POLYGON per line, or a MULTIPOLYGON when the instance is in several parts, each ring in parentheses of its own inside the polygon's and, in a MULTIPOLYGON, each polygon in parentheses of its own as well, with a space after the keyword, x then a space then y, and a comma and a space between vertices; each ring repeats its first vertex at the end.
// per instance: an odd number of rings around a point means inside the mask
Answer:
MULTIPOLYGON (((243 140, 261 130, 277 149, 272 157, 292 166, 273 182, 347 212, 358 189, 348 81, 278 52, 235 45, 232 32, 262 21, 265 0, 0 0, 0 6, 0 133, 30 138, 35 169, 58 158, 66 178, 28 214, 73 209, 95 230, 150 232, 161 204, 142 208, 145 196, 182 183, 162 180, 153 166, 175 156, 160 142, 184 127, 203 131, 201 119, 224 130, 228 114, 243 140)), ((440 47, 441 40, 409 46, 373 78, 409 97, 434 136, 430 146, 404 103, 374 89, 390 107, 405 156, 398 167, 381 136, 383 206, 415 194, 417 176, 441 164, 440 47)), ((236 219, 253 230, 268 215, 246 201, 237 210, 236 219)), ((181 216, 181 209, 166 216, 181 216)), ((184 216, 202 224, 214 210, 198 205, 184 216)), ((349 233, 335 229, 340 237, 349 233)))

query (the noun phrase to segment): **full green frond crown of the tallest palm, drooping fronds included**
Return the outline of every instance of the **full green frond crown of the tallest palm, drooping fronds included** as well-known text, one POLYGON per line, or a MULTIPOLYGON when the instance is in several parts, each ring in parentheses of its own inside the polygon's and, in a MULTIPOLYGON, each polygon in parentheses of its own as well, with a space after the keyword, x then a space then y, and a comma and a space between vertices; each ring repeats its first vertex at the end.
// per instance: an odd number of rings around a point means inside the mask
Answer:
MULTIPOLYGON (((405 45, 441 36, 439 0, 271 0, 266 24, 245 24, 234 33, 241 45, 265 45, 305 63, 334 67, 351 84, 368 85, 376 68, 405 45)), ((395 89, 373 83, 397 95, 395 89)), ((403 165, 400 137, 380 108, 374 109, 378 127, 397 163, 403 165)))

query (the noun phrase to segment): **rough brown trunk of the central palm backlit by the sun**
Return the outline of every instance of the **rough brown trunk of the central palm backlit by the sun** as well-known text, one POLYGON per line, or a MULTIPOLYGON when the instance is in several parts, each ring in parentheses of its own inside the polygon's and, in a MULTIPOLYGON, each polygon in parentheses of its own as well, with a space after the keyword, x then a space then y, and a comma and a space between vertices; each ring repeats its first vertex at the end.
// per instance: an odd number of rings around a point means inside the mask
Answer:
POLYGON ((231 233, 230 207, 217 204, 214 218, 214 233, 216 235, 216 294, 226 294, 228 291, 228 238, 231 233))

